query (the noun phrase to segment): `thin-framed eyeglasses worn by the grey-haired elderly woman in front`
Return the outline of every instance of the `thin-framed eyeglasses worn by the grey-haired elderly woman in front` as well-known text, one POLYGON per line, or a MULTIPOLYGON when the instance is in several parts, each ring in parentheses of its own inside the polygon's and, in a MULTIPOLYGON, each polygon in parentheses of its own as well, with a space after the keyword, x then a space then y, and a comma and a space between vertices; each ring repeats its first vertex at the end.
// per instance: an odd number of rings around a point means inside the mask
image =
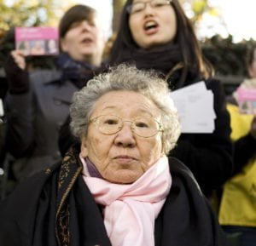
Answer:
POLYGON ((90 123, 95 123, 96 128, 102 134, 107 135, 118 133, 125 122, 131 123, 132 132, 143 138, 153 137, 163 131, 161 124, 152 117, 137 117, 133 121, 129 121, 115 115, 101 115, 90 119, 90 123))

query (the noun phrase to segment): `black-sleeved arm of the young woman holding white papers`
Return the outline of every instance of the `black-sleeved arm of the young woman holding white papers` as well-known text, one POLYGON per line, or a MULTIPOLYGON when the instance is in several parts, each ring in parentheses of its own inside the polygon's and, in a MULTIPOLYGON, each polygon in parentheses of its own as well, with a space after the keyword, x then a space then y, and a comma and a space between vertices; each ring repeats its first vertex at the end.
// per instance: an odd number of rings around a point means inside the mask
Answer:
POLYGON ((219 81, 210 81, 207 88, 214 95, 216 113, 212 134, 182 134, 171 156, 179 158, 195 175, 204 191, 221 186, 232 172, 230 115, 226 110, 224 88, 219 81))

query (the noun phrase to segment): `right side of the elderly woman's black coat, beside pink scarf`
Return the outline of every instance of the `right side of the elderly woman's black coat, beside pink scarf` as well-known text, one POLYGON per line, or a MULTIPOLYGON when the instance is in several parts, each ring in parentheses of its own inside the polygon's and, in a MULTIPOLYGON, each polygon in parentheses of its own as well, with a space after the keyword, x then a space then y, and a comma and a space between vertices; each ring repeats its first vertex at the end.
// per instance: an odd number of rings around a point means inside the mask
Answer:
POLYGON ((230 245, 193 174, 176 159, 169 164, 172 186, 155 221, 155 245, 230 245))

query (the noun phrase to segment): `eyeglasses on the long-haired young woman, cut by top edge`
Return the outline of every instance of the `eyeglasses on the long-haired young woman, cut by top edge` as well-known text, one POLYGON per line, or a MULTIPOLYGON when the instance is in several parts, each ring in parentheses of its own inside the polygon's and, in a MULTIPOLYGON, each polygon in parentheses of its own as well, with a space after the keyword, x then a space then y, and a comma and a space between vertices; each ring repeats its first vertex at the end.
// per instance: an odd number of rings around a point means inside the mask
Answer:
POLYGON ((151 0, 149 2, 137 2, 127 6, 127 12, 129 14, 136 14, 142 12, 147 4, 150 4, 150 7, 153 9, 160 9, 163 6, 169 5, 172 0, 151 0))

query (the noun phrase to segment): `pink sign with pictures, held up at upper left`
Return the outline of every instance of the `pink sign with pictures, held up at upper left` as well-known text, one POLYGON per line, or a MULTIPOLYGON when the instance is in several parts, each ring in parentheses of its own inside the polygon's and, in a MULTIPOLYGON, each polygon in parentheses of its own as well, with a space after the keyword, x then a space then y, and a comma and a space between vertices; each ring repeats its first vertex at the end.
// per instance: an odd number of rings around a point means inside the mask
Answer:
POLYGON ((59 54, 59 33, 55 27, 16 27, 15 48, 25 55, 59 54))

